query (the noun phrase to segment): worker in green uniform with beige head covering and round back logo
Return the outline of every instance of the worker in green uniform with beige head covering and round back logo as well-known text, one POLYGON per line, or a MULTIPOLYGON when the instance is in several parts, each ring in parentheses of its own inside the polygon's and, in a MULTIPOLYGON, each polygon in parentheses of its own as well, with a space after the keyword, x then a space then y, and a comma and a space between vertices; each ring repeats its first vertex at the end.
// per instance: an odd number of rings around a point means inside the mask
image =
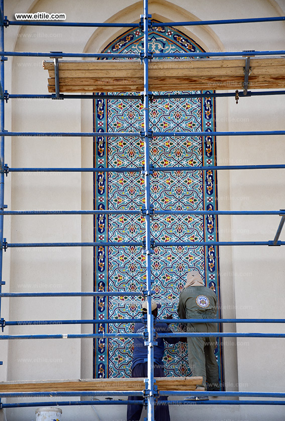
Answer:
MULTIPOLYGON (((198 271, 187 274, 187 282, 179 295, 178 315, 182 319, 213 319, 217 317, 217 296, 204 286, 198 271)), ((187 332, 217 332, 217 323, 187 323, 187 332)), ((215 356, 216 338, 214 336, 187 336, 188 360, 193 376, 203 377, 203 386, 208 383, 209 391, 218 391, 219 369, 215 356)), ((206 389, 207 390, 207 389, 206 389)), ((195 400, 207 397, 190 397, 195 400)))

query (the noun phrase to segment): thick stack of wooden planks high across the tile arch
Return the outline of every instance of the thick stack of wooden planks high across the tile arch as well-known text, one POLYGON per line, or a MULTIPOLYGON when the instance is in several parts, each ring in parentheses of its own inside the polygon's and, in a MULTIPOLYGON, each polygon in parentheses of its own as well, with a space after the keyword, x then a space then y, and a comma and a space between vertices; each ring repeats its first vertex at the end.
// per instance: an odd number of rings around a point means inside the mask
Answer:
MULTIPOLYGON (((44 61, 48 91, 55 92, 54 62, 44 61)), ((242 90, 244 58, 154 60, 149 91, 242 90)), ((59 90, 67 92, 141 92, 143 64, 137 60, 59 60, 59 90)), ((285 88, 285 57, 250 59, 248 89, 285 88)))

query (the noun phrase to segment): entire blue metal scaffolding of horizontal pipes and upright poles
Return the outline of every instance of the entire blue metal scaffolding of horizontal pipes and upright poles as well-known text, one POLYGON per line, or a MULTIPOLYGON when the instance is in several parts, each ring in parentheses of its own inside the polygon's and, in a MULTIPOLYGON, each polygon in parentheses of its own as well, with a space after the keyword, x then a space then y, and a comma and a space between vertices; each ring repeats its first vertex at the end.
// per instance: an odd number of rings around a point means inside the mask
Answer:
MULTIPOLYGON (((236 20, 216 20, 216 21, 193 21, 193 22, 173 22, 173 23, 160 23, 160 26, 193 26, 193 25, 220 25, 220 24, 241 24, 241 23, 256 23, 256 22, 273 22, 273 21, 284 21, 285 17, 272 17, 272 18, 259 18, 259 19, 236 19, 236 20)), ((148 0, 144 0, 144 10, 141 20, 138 24, 129 24, 129 23, 65 23, 65 22, 28 22, 28 21, 9 21, 6 16, 4 16, 4 0, 1 0, 1 13, 0 13, 0 27, 1 27, 1 62, 0 62, 0 74, 1 74, 1 83, 0 83, 0 327, 4 332, 5 326, 13 325, 28 325, 28 324, 42 324, 40 320, 25 320, 25 321, 6 321, 4 318, 1 318, 1 300, 2 298, 14 298, 14 297, 84 297, 84 296, 120 296, 122 292, 42 292, 42 293, 5 293, 2 292, 2 286, 5 285, 5 282, 2 280, 2 266, 3 266, 3 252, 10 247, 63 247, 63 246, 141 246, 145 249, 146 252, 146 288, 145 291, 141 292, 123 292, 125 296, 142 296, 144 295, 147 300, 147 317, 143 319, 145 322, 146 330, 145 335, 142 333, 105 333, 105 338, 145 338, 145 344, 148 347, 148 376, 146 379, 146 385, 144 392, 108 392, 110 396, 144 396, 145 403, 147 405, 147 419, 148 421, 154 420, 154 405, 155 404, 164 404, 166 401, 160 401, 155 403, 156 390, 155 390, 155 380, 153 374, 154 366, 154 326, 153 326, 153 316, 151 314, 151 297, 153 294, 152 291, 152 277, 151 277, 151 254, 154 246, 197 246, 197 245, 218 245, 218 246, 231 246, 231 245, 268 245, 268 246, 280 246, 285 245, 285 241, 280 241, 279 236, 285 221, 285 210, 276 210, 276 211, 157 211, 153 210, 150 198, 150 185, 151 185, 151 174, 152 171, 164 172, 164 171, 208 171, 211 166, 196 166, 196 167, 153 167, 150 162, 150 141, 153 136, 208 136, 209 132, 152 132, 149 127, 150 117, 149 117, 149 102, 152 98, 197 98, 197 97, 231 97, 235 96, 235 93, 213 93, 213 94, 171 94, 171 95, 153 95, 152 92, 149 92, 148 89, 148 65, 149 61, 152 58, 157 57, 226 57, 226 56, 244 56, 244 52, 207 52, 207 53, 167 53, 167 54, 157 54, 149 51, 148 48, 148 30, 153 25, 157 26, 157 23, 153 24, 151 21, 151 15, 148 13, 148 0), (144 33, 144 52, 139 54, 111 54, 111 53, 97 53, 97 54, 83 54, 83 53, 36 53, 36 52, 10 52, 5 51, 4 45, 4 31, 5 28, 12 25, 34 25, 34 26, 69 26, 69 27, 128 27, 128 28, 140 28, 144 33), (144 130, 143 132, 136 133, 97 133, 97 132, 88 132, 88 133, 65 133, 65 132, 9 132, 5 130, 5 103, 9 99, 15 98, 41 98, 41 99, 88 99, 88 98, 111 98, 107 95, 63 95, 59 93, 59 89, 56 89, 56 94, 51 95, 17 95, 10 94, 5 91, 4 83, 4 64, 7 57, 13 56, 26 56, 26 57, 50 57, 54 58, 55 64, 58 65, 59 57, 92 57, 92 58, 139 58, 142 61, 144 67, 144 91, 141 95, 123 95, 123 96, 112 96, 112 98, 127 98, 130 101, 140 101, 143 97, 143 112, 144 112, 144 130), (5 164, 4 157, 4 145, 6 136, 72 136, 72 137, 93 137, 93 136, 117 136, 117 137, 134 137, 140 136, 144 140, 144 167, 143 168, 125 168, 121 167, 118 169, 114 168, 12 168, 5 164), (141 172, 144 175, 145 179, 145 208, 141 211, 134 210, 71 210, 71 211, 9 211, 6 210, 4 204, 4 180, 11 172, 141 172), (140 215, 143 214, 145 217, 145 242, 59 242, 59 243, 9 243, 6 238, 4 238, 3 227, 4 227, 4 216, 6 215, 84 215, 84 214, 129 214, 129 215, 140 215), (157 242, 153 241, 151 238, 151 227, 150 221, 153 215, 279 215, 281 216, 281 221, 277 229, 275 238, 268 241, 232 241, 232 242, 207 242, 207 241, 196 241, 196 242, 157 242)), ((259 56, 270 56, 270 55, 280 55, 285 54, 285 51, 254 51, 246 52, 247 56, 259 55, 259 56)), ((56 73, 55 78, 58 79, 58 73, 56 73)), ((58 80, 56 81, 58 83, 58 80)), ((284 95, 285 91, 262 91, 262 92, 250 92, 248 91, 243 95, 240 93, 240 97, 251 97, 251 96, 266 96, 266 95, 284 95)), ((240 131, 240 132, 211 132, 212 136, 256 136, 256 135, 284 135, 285 130, 279 131, 240 131)), ((254 169, 284 169, 285 164, 275 164, 275 165, 227 165, 227 166, 213 166, 214 171, 218 170, 254 170, 254 169)), ((46 320, 46 324, 54 324, 55 322, 60 322, 61 324, 97 324, 97 323, 132 323, 136 321, 141 321, 141 319, 106 319, 106 320, 46 320)), ((169 319, 163 320, 163 322, 171 323, 180 323, 187 322, 189 320, 181 319, 169 319)), ((284 323, 284 319, 212 319, 207 320, 207 322, 213 323, 284 323)), ((161 321, 157 321, 158 323, 161 321)), ((191 322, 205 322, 204 319, 191 319, 191 322)), ((285 333, 159 333, 157 334, 160 338, 166 338, 167 336, 214 336, 224 338, 227 336, 230 337, 252 337, 252 338, 285 338, 285 333)), ((29 335, 1 335, 1 340, 19 340, 19 339, 61 339, 63 336, 67 339, 73 338, 102 338, 102 334, 29 334, 29 335)), ((13 392, 13 393, 1 393, 0 398, 6 397, 25 397, 25 396, 102 396, 106 392, 13 392)), ((188 395, 189 392, 160 392, 161 395, 172 395, 172 396, 181 396, 188 395)), ((218 396, 218 397, 257 397, 258 400, 210 400, 210 401, 197 401, 197 404, 229 404, 229 405, 284 405, 285 400, 276 400, 279 398, 285 398, 285 393, 257 393, 257 392, 191 392, 193 395, 205 394, 207 396, 218 396), (275 400, 262 400, 262 398, 274 398, 275 400)), ((167 401, 170 404, 187 404, 191 402, 187 401, 167 401)), ((50 405, 110 405, 110 404, 122 404, 125 405, 127 401, 45 401, 45 402, 16 402, 16 403, 1 403, 0 399, 0 409, 2 408, 12 408, 12 407, 25 407, 25 406, 50 406, 50 405)), ((141 403, 141 401, 132 401, 133 404, 141 403)))

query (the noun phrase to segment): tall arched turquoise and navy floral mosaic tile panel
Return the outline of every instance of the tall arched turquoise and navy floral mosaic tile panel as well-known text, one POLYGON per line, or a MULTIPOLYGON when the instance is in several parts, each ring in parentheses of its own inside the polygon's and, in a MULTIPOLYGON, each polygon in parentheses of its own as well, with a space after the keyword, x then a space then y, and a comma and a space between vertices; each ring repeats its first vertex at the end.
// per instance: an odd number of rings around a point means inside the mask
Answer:
MULTIPOLYGON (((152 28, 149 49, 155 52, 203 51, 192 39, 171 27, 152 28)), ((143 33, 129 30, 109 44, 103 52, 138 53, 143 51, 143 33)), ((175 60, 169 67, 175 66, 175 60)), ((175 67, 174 67, 175 68, 175 67)), ((172 92, 169 92, 169 94, 172 92)), ((121 93, 122 94, 122 93, 121 93)), ((143 105, 138 101, 94 100, 94 131, 137 132, 143 127, 143 105)), ((150 105, 150 128, 153 131, 207 131, 209 136, 165 137, 151 140, 154 166, 199 166, 216 164, 215 100, 161 99, 150 105)), ((94 167, 142 167, 144 144, 141 138, 94 138, 94 167)), ((216 172, 153 173, 151 199, 154 208, 168 210, 216 210, 216 172)), ((94 174, 94 209, 141 209, 144 206, 144 178, 140 173, 94 174)), ((217 241, 215 215, 155 216, 153 238, 161 241, 217 241)), ((141 241, 144 217, 104 214, 94 216, 94 241, 141 241)), ((155 247, 152 259, 154 298, 161 302, 160 317, 177 316, 178 295, 186 273, 198 269, 205 284, 220 298, 219 256, 217 246, 155 247)), ((145 256, 140 247, 94 247, 94 291, 137 291, 145 289, 145 256)), ((94 298, 94 319, 138 318, 141 297, 94 298)), ((220 300, 219 300, 220 301, 220 300)), ((173 325, 173 329, 177 326, 173 325)), ((133 324, 94 325, 97 332, 130 332, 133 324)), ((93 341, 93 377, 129 377, 132 340, 104 338, 93 341)), ((216 349, 223 381, 222 344, 216 349)), ((186 344, 166 346, 165 373, 169 376, 191 374, 186 344)))

